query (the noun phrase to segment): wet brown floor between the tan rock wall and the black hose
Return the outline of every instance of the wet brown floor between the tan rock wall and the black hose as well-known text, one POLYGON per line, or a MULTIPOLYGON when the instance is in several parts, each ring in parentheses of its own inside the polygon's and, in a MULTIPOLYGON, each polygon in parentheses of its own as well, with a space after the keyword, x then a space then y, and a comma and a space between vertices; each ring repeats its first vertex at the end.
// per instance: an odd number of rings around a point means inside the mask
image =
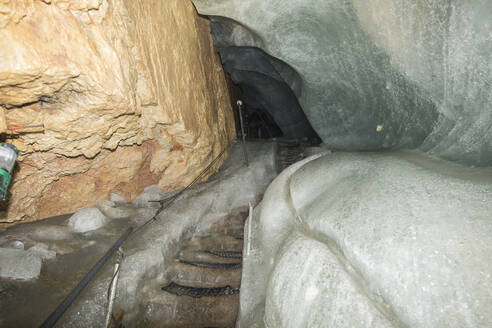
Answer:
MULTIPOLYGON (((3 244, 21 241, 27 249, 43 243, 56 251, 55 258, 43 261, 37 279, 0 278, 0 327, 38 327, 129 225, 115 220, 104 230, 74 234, 65 225, 69 217, 20 224, 0 234, 3 244)), ((99 276, 112 269, 108 263, 99 276)))

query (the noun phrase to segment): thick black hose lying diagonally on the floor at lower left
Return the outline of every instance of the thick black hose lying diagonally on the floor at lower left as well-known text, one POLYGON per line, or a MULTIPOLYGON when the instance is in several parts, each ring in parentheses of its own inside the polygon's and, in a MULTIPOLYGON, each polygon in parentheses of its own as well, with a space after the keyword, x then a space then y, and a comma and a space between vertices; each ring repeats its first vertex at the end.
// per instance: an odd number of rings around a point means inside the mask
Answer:
POLYGON ((77 296, 84 290, 89 282, 94 278, 96 273, 104 266, 104 264, 111 258, 111 255, 123 244, 123 242, 130 236, 133 228, 130 227, 126 230, 125 234, 118 239, 118 241, 104 254, 104 256, 92 267, 92 269, 85 275, 79 284, 72 290, 72 292, 58 305, 55 311, 53 311, 48 319, 41 325, 41 328, 53 327, 60 317, 65 313, 68 307, 75 301, 77 296))

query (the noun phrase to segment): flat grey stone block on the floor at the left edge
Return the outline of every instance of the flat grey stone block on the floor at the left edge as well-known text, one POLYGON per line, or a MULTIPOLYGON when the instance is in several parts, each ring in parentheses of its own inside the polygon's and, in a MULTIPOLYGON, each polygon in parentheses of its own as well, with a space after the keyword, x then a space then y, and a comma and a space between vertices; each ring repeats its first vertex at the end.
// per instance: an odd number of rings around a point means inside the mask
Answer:
POLYGON ((30 280, 39 277, 41 258, 23 249, 0 248, 0 278, 30 280))

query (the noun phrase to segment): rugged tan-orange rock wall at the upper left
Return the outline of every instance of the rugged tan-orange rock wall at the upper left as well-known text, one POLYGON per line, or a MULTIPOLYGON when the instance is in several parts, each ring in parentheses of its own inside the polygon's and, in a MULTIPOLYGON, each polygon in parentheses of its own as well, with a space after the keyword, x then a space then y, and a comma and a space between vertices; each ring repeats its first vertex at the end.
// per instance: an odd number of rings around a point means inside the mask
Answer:
POLYGON ((235 136, 207 20, 188 1, 6 0, 0 107, 21 151, 0 222, 185 186, 235 136))

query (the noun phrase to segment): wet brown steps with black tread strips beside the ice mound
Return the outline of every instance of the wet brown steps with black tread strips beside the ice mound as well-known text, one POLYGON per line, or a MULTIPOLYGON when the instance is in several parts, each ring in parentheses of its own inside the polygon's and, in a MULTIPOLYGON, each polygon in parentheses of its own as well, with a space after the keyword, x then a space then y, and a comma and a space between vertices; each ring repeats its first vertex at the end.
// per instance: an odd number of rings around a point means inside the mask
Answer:
POLYGON ((170 283, 146 304, 140 327, 235 326, 247 211, 231 211, 185 240, 169 271, 170 283))

